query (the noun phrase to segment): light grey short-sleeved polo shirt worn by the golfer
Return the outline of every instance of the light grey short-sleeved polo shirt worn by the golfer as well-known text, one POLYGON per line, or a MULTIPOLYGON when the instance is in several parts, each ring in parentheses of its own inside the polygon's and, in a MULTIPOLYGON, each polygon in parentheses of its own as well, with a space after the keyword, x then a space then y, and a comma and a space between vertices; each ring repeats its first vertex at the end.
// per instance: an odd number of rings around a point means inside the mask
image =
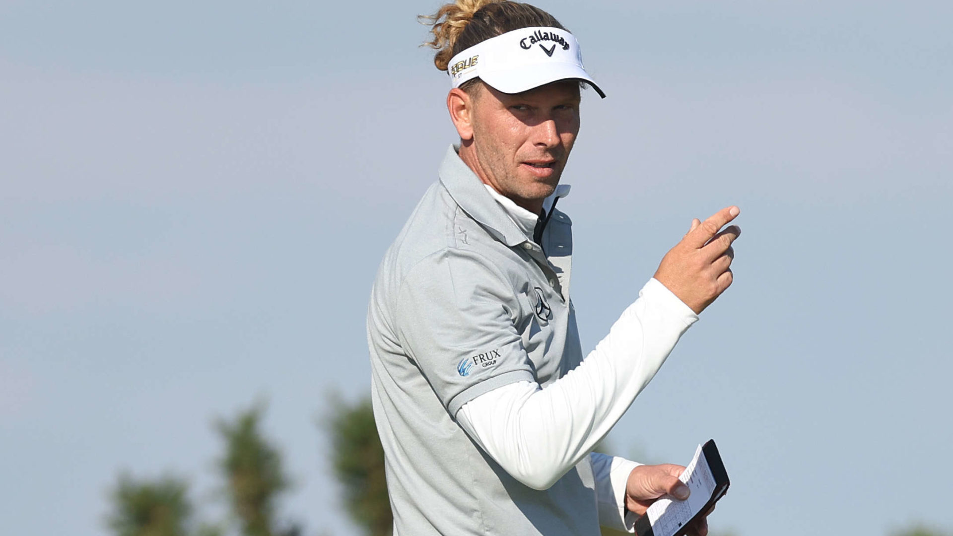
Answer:
POLYGON ((545 387, 582 361, 571 225, 557 209, 534 243, 451 146, 384 256, 368 343, 400 536, 598 535, 588 457, 536 490, 455 421, 483 393, 524 380, 545 387))

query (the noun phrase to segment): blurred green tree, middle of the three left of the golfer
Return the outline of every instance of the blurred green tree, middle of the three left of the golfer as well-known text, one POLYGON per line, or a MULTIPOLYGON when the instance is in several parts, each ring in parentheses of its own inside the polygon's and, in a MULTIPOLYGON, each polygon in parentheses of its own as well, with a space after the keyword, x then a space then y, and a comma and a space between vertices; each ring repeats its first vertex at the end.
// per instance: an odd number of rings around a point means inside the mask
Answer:
POLYGON ((218 419, 215 430, 225 442, 218 469, 244 536, 295 536, 301 527, 279 526, 275 506, 291 481, 284 472, 281 453, 261 431, 263 403, 241 411, 232 421, 218 419))

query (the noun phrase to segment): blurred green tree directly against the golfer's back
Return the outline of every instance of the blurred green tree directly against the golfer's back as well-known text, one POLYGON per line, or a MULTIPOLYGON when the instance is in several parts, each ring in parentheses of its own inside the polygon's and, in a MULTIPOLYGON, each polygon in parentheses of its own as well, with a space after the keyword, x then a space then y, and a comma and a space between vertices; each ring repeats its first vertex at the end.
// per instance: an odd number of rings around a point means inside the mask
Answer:
POLYGON ((370 399, 348 404, 333 398, 327 429, 332 467, 344 504, 368 536, 387 536, 394 526, 384 476, 384 448, 377 435, 370 399))

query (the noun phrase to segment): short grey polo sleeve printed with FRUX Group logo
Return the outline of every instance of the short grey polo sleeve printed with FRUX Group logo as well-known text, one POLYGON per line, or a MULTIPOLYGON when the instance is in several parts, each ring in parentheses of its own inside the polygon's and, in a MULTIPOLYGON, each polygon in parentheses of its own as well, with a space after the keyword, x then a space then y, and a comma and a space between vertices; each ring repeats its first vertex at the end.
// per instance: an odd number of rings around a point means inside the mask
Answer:
POLYGON ((451 415, 499 386, 535 381, 516 328, 519 307, 499 269, 473 252, 437 252, 404 278, 397 336, 451 415))

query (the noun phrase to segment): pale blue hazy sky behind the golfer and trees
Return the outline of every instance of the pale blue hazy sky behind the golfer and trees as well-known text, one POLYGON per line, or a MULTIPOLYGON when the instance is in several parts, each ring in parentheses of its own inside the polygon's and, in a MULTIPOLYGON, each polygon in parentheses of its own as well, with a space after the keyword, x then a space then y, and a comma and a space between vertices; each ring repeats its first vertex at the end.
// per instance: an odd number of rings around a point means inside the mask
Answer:
MULTIPOLYGON (((0 3, 0 517, 104 534, 118 470, 213 493, 256 397, 312 533, 314 425, 367 393, 377 262, 453 130, 416 45, 437 3, 0 3)), ((715 438, 741 536, 953 527, 953 6, 539 4, 587 94, 560 208, 592 348, 692 217, 741 207, 736 283, 610 438, 715 438)))

